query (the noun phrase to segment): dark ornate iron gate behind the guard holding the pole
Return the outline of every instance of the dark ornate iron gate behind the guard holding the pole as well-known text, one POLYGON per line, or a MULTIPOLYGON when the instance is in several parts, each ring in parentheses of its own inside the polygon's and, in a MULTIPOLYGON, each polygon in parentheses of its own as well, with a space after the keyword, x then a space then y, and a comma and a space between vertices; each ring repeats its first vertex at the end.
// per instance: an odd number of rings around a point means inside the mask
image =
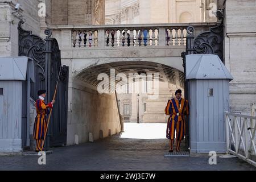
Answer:
MULTIPOLYGON (((47 29, 44 33, 46 39, 33 35, 31 31, 22 28, 23 20, 20 20, 19 30, 19 56, 27 56, 34 60, 35 82, 31 84, 30 97, 36 101, 37 91, 47 90, 46 101, 51 101, 55 92, 57 78, 60 74, 57 88, 56 102, 53 106, 51 121, 48 129, 49 146, 59 146, 67 143, 67 113, 68 113, 68 67, 61 66, 60 49, 57 40, 51 38, 52 32, 47 29)), ((25 84, 24 84, 25 85, 25 84)), ((23 93, 26 88, 23 86, 23 93)), ((26 94, 23 94, 23 97, 26 94)), ((24 98, 25 101, 30 98, 24 98)), ((29 146, 27 140, 27 105, 23 102, 22 107, 22 141, 23 147, 29 146)))

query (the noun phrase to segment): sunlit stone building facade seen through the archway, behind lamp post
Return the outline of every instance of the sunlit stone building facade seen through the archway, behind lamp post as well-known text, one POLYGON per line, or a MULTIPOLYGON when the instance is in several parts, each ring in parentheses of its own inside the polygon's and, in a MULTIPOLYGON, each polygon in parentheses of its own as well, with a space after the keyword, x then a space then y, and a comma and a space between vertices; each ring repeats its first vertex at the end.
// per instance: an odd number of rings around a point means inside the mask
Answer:
MULTIPOLYGON (((159 82, 158 98, 154 99, 154 97, 151 98, 152 94, 139 92, 139 122, 166 123, 168 117, 164 114, 164 109, 167 101, 174 98, 174 93, 177 89, 181 89, 184 92, 184 88, 180 88, 179 85, 169 84, 168 82, 159 82)), ((137 122, 137 94, 138 93, 118 94, 118 100, 120 100, 120 113, 125 118, 125 122, 137 122), (127 107, 129 107, 129 112, 127 112, 127 107)))

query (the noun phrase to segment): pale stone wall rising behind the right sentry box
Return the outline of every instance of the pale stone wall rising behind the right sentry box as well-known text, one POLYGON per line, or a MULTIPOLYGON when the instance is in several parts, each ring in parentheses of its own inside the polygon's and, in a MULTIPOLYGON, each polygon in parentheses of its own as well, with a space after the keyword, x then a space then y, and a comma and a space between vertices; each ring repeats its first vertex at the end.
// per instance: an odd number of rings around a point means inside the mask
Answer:
POLYGON ((226 1, 225 62, 230 82, 230 111, 249 114, 256 102, 256 1, 226 1))

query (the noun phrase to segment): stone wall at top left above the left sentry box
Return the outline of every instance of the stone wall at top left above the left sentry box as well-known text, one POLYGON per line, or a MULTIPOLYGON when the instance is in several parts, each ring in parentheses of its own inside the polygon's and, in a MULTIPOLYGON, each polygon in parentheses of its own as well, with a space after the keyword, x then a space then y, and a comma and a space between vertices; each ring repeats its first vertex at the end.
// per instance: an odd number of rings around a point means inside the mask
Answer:
POLYGON ((18 22, 12 14, 16 3, 20 3, 20 13, 26 22, 23 28, 33 34, 40 34, 38 17, 39 0, 4 1, 0 0, 0 56, 18 56, 18 22))

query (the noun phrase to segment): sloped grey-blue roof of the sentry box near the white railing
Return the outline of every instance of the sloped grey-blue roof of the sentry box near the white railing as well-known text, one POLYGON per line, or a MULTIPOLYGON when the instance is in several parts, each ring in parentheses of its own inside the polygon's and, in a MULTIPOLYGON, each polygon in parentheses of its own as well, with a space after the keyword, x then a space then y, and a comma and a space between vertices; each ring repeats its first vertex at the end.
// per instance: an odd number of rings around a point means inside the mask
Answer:
POLYGON ((233 80, 218 55, 187 55, 186 78, 233 80))

